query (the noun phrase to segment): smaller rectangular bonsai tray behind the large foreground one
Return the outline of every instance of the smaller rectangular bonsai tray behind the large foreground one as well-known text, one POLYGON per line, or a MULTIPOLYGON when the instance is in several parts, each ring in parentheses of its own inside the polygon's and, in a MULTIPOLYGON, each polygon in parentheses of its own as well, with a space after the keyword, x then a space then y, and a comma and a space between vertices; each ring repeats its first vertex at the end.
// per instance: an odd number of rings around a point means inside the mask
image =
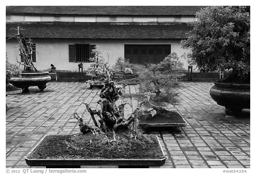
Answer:
POLYGON ((137 123, 142 128, 184 127, 187 125, 186 120, 184 120, 183 116, 181 116, 178 112, 176 112, 176 111, 168 111, 168 112, 170 114, 172 114, 174 120, 169 119, 163 123, 163 122, 160 122, 160 120, 159 120, 160 118, 158 118, 154 121, 147 121, 147 120, 141 121, 141 120, 137 119, 137 123))

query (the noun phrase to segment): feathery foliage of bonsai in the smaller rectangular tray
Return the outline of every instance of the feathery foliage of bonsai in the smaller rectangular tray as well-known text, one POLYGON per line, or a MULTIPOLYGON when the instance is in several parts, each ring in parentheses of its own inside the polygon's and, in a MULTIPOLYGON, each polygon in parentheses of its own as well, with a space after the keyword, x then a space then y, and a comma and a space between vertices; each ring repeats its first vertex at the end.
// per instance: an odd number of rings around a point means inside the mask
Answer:
POLYGON ((140 71, 140 93, 148 97, 153 104, 163 102, 175 103, 175 88, 180 84, 176 81, 181 76, 179 70, 183 64, 176 53, 169 54, 158 64, 149 64, 140 71))

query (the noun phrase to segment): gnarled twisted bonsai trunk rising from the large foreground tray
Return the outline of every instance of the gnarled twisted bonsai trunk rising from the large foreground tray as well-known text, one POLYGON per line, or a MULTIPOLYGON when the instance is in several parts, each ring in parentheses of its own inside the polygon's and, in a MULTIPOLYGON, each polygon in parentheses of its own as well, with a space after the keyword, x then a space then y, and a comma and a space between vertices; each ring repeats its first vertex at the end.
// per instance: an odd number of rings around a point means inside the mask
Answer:
MULTIPOLYGON (((101 130, 107 132, 111 130, 113 132, 114 140, 116 140, 115 134, 120 128, 128 129, 134 122, 134 117, 130 116, 128 119, 124 118, 124 106, 128 103, 121 103, 119 106, 116 106, 116 101, 122 95, 123 86, 118 86, 114 81, 112 81, 111 73, 109 69, 104 70, 104 87, 100 92, 100 100, 97 104, 100 104, 101 109, 97 107, 95 109, 90 108, 89 104, 85 104, 87 111, 90 113, 92 120, 95 124, 95 128, 88 126, 84 123, 81 116, 76 112, 73 113, 74 118, 79 122, 80 131, 82 133, 95 132, 101 130), (100 126, 98 125, 94 115, 100 117, 100 126)), ((134 130, 134 128, 133 128, 134 130)))

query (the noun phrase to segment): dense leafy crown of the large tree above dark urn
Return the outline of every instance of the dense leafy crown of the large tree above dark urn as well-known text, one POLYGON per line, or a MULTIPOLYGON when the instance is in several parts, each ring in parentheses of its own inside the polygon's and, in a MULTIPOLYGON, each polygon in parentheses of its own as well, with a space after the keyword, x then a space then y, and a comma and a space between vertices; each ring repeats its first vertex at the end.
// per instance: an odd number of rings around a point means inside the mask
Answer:
POLYGON ((231 80, 250 79, 250 7, 215 6, 196 13, 182 47, 199 70, 232 70, 231 80))

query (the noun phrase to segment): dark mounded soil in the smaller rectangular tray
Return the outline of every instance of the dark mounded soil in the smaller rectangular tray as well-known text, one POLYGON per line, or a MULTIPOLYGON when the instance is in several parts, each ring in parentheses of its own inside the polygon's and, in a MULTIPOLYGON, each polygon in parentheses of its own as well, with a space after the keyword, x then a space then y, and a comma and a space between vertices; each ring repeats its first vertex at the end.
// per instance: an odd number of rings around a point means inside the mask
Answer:
POLYGON ((147 110, 138 113, 138 120, 140 124, 178 124, 185 123, 183 118, 177 112, 172 112, 168 110, 157 110, 156 115, 152 116, 147 110), (147 114, 146 114, 147 113, 147 114))

